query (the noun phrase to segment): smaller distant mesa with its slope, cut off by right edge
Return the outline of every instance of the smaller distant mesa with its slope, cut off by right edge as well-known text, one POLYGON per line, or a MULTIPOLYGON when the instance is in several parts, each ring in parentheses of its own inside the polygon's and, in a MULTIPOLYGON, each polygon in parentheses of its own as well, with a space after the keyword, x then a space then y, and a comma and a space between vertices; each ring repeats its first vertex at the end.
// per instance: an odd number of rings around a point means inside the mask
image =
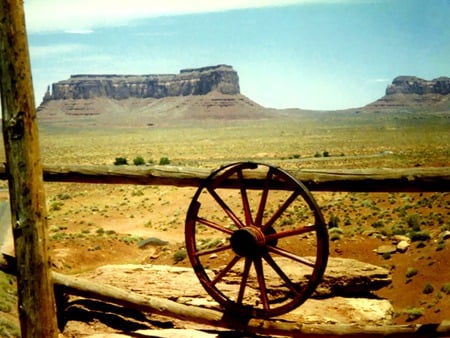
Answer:
POLYGON ((385 96, 363 110, 450 112, 450 78, 427 81, 415 76, 398 76, 386 88, 385 96))

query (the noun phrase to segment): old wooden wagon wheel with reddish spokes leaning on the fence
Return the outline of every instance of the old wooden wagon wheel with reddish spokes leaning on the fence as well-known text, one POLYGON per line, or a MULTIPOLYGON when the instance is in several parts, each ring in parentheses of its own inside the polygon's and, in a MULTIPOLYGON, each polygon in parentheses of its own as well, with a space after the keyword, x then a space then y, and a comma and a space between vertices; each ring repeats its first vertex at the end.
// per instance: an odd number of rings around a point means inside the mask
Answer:
POLYGON ((298 307, 328 260, 326 224, 311 193, 285 171, 251 162, 225 166, 203 182, 189 206, 185 240, 205 290, 225 311, 245 317, 298 307))

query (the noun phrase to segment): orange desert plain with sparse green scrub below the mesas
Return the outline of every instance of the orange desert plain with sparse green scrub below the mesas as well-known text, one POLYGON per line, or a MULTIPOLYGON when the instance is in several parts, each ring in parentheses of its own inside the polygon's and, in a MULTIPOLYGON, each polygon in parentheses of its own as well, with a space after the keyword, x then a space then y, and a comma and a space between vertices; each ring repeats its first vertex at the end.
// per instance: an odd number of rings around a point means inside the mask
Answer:
MULTIPOLYGON (((449 167, 448 113, 316 113, 280 119, 191 121, 142 128, 40 126, 48 165, 112 165, 142 158, 210 168, 236 161, 299 168, 449 167)), ((0 159, 4 161, 4 159, 0 159)), ((6 182, 0 182, 3 188, 6 182)), ((189 266, 184 222, 195 187, 45 183, 53 268, 68 274, 105 264, 189 266), (164 248, 138 248, 156 237, 164 248)), ((392 272, 376 292, 395 308, 396 323, 450 319, 450 195, 314 192, 330 228, 330 256, 392 272), (420 232, 405 253, 380 255, 395 234, 420 232)), ((3 191, 2 199, 7 199, 3 191)), ((220 262, 211 262, 219 264, 220 262)), ((1 325, 0 325, 1 326, 1 325)))

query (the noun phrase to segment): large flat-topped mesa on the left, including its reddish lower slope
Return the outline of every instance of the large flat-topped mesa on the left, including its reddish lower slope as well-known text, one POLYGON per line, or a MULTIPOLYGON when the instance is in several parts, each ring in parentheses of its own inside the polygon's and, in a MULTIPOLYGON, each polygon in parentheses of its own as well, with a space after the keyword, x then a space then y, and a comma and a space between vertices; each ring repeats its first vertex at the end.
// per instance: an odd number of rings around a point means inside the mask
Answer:
POLYGON ((227 65, 159 75, 72 75, 48 88, 40 122, 151 126, 197 119, 260 119, 266 109, 240 94, 227 65))

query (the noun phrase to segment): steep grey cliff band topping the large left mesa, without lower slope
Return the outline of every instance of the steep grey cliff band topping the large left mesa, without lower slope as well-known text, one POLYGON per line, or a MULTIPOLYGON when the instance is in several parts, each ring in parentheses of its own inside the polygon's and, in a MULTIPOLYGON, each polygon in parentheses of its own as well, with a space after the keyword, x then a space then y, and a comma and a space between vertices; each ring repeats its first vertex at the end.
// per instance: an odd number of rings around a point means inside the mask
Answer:
POLYGON ((163 98, 204 95, 210 92, 239 94, 239 78, 231 66, 217 65, 184 69, 179 74, 72 75, 47 90, 43 103, 51 100, 107 97, 163 98))

